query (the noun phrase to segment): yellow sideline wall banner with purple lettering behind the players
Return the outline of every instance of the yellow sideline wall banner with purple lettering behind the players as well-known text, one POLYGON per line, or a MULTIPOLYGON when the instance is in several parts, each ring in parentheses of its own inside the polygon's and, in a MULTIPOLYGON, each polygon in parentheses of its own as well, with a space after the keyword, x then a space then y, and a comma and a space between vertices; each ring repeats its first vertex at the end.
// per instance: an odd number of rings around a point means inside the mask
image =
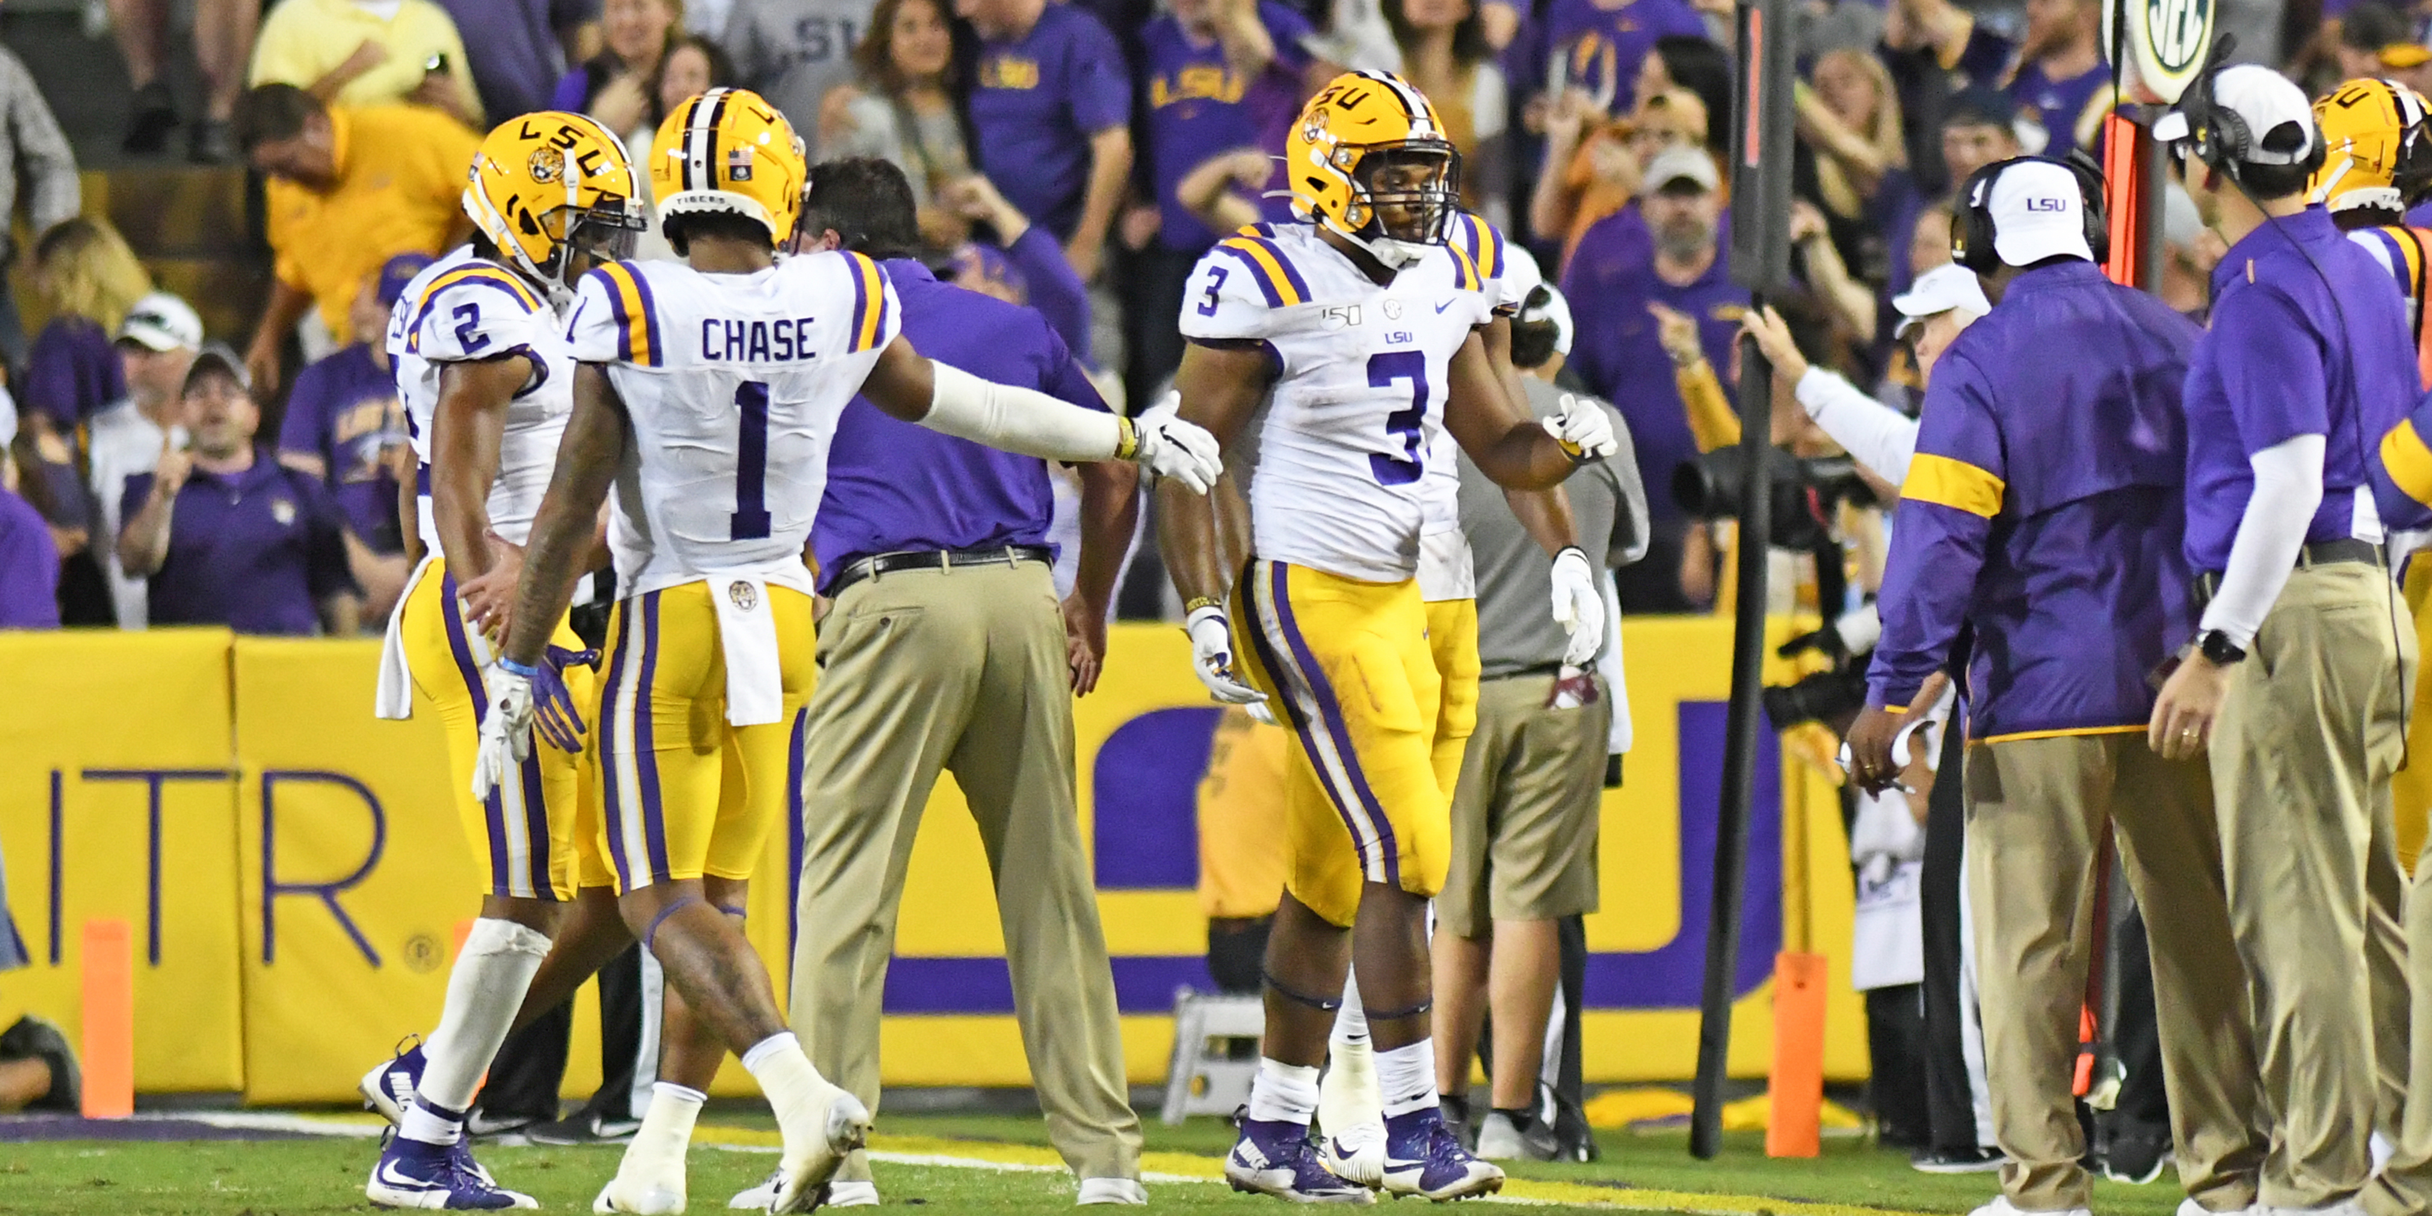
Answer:
MULTIPOLYGON (((1586 1073, 1673 1080, 1695 1058, 1729 625, 1632 620, 1625 647, 1637 747, 1627 788, 1603 800, 1586 1073)), ((0 1014, 36 1009, 73 1036, 80 927, 122 917, 136 927, 146 1092, 345 1102, 401 1036, 428 1031, 482 878, 447 798, 438 722, 375 720, 375 642, 0 635, 0 854, 34 956, 0 978, 0 1014)), ((1155 625, 1114 630, 1107 679, 1075 710, 1082 832, 1133 1082, 1165 1075, 1175 990, 1209 987, 1194 798, 1214 725, 1187 640, 1155 625)), ((1860 1077, 1839 800, 1783 764, 1770 734, 1761 764, 1732 1070, 1768 1065, 1773 953, 1785 912, 1800 912, 1834 956, 1826 1073, 1860 1077), (1790 866, 1785 839, 1800 849, 1790 866)), ((747 924, 778 997, 793 837, 771 841, 747 924)), ((1029 1085, 992 888, 948 778, 902 897, 880 1036, 888 1085, 1029 1085)), ((574 1024, 567 1090, 586 1094, 598 1080, 589 997, 574 1024)), ((732 1060, 717 1090, 751 1092, 732 1060)))

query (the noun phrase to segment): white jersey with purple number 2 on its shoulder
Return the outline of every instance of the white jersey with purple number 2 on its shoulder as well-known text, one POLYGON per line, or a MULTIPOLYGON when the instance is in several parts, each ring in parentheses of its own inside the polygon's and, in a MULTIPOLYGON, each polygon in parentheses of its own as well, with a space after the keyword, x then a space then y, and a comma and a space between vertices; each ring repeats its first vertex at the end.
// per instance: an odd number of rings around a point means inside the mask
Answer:
POLYGON ((474 258, 472 246, 423 268, 389 311, 389 365, 406 406, 406 433, 421 462, 421 535, 440 552, 430 511, 430 426, 440 409, 440 370, 450 362, 523 355, 533 377, 506 406, 499 479, 489 484, 489 530, 523 545, 557 467, 557 438, 574 409, 574 355, 550 304, 513 270, 474 258))

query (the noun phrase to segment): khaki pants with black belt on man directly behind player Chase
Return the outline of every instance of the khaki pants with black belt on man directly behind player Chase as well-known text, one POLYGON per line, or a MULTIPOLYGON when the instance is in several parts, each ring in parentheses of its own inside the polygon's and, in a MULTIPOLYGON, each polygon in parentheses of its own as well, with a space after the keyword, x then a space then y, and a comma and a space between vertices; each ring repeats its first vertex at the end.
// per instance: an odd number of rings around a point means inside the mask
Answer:
MULTIPOLYGON (((939 771, 997 883, 1014 1019, 1055 1150, 1080 1177, 1141 1177, 1114 970, 1073 795, 1073 696, 1048 567, 863 579, 820 623, 803 749, 793 1031, 878 1109, 878 1019, 912 837, 939 771)), ((861 1153, 839 1177, 868 1180, 861 1153)))

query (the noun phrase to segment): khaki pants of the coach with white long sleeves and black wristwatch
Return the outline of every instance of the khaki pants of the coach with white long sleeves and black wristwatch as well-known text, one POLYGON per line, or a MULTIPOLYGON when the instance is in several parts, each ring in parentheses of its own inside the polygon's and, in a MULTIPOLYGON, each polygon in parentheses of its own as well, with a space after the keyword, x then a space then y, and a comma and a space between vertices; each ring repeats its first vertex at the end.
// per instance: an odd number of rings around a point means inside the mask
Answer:
MULTIPOLYGON (((2415 635, 2361 562, 2289 576, 2213 722, 2213 798, 2274 1116, 2262 1199, 2318 1209, 2371 1175, 2369 851, 2403 751, 2415 635)), ((2157 951, 2160 953, 2160 951, 2157 951)))

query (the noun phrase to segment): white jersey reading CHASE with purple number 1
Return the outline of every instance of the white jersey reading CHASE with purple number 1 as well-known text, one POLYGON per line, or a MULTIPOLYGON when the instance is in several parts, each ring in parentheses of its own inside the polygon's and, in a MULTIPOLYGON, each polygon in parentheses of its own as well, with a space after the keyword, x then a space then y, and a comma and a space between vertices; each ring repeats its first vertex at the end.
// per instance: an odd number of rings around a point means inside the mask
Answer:
POLYGON ((584 275, 574 358, 608 367, 632 418, 608 537, 618 593, 747 574, 807 596, 837 416, 900 328, 895 287, 858 253, 584 275))

